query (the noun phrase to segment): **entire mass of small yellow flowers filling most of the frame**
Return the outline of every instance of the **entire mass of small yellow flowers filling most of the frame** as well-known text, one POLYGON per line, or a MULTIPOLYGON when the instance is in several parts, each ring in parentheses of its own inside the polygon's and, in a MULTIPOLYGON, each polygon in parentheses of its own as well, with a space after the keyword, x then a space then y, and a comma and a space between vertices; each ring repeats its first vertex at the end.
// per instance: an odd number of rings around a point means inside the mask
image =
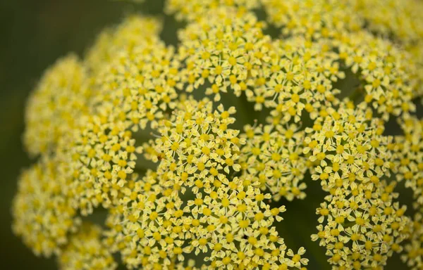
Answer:
POLYGON ((423 3, 165 9, 186 23, 177 46, 134 15, 40 79, 23 136, 37 161, 13 202, 24 243, 61 269, 116 269, 114 254, 130 269, 305 269, 269 203, 319 181, 311 239, 333 269, 382 269, 393 252, 422 269, 423 3), (104 224, 81 221, 101 211, 104 224))

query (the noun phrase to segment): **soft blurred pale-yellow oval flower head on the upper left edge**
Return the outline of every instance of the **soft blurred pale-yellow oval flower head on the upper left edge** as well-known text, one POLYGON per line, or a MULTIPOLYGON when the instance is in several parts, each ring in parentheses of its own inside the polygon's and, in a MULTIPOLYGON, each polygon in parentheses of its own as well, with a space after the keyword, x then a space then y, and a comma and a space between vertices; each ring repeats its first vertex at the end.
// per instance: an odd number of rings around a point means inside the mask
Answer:
POLYGON ((24 143, 30 155, 54 149, 61 136, 78 127, 78 118, 89 113, 94 92, 86 76, 85 66, 73 54, 44 73, 27 102, 24 143))

